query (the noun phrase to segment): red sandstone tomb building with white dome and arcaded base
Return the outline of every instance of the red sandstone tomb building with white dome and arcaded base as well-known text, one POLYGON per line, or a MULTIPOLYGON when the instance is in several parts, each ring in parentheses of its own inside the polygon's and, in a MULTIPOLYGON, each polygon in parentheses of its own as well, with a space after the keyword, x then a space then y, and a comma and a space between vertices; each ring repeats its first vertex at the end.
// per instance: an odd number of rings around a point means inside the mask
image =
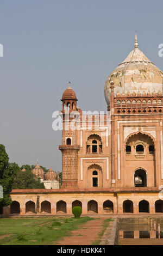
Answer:
POLYGON ((61 188, 13 190, 3 214, 72 214, 76 205, 83 214, 163 212, 162 81, 135 36, 105 82, 107 114, 84 114, 69 85, 61 99, 61 188))

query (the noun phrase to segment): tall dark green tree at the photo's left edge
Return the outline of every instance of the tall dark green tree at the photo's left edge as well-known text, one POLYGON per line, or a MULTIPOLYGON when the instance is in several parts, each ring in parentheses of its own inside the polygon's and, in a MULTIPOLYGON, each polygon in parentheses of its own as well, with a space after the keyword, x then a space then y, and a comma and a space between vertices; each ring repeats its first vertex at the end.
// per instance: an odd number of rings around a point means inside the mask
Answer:
POLYGON ((10 192, 18 170, 20 168, 16 163, 9 163, 5 147, 0 144, 0 185, 3 187, 3 198, 0 198, 0 206, 7 206, 12 203, 10 192))

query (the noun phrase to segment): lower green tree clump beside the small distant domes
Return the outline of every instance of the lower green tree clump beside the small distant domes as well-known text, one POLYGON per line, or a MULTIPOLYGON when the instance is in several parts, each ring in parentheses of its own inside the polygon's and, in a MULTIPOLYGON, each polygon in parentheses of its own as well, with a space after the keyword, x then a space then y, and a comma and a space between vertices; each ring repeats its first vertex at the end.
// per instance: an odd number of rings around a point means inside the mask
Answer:
MULTIPOLYGON (((26 166, 24 166, 26 169, 26 166)), ((44 184, 41 183, 40 178, 37 178, 30 169, 22 172, 18 170, 16 173, 13 185, 13 189, 35 189, 35 188, 45 188, 44 184)))

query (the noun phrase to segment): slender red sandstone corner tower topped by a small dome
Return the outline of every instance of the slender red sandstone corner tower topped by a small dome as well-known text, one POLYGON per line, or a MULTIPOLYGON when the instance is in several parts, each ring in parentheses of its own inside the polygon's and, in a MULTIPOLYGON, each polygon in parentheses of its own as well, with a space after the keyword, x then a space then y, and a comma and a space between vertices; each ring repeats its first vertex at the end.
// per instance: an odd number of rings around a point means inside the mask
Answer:
POLYGON ((77 155, 80 147, 77 145, 76 130, 70 127, 70 113, 77 111, 76 93, 68 88, 62 94, 62 185, 61 187, 78 187, 77 155))

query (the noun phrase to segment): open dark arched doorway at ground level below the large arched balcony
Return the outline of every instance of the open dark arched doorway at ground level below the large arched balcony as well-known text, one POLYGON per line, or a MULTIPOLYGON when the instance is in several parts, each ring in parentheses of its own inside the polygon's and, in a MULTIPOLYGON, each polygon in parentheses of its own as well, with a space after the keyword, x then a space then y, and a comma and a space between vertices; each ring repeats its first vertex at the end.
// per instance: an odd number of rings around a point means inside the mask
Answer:
POLYGON ((143 169, 137 169, 134 173, 134 186, 147 187, 147 174, 143 169))

